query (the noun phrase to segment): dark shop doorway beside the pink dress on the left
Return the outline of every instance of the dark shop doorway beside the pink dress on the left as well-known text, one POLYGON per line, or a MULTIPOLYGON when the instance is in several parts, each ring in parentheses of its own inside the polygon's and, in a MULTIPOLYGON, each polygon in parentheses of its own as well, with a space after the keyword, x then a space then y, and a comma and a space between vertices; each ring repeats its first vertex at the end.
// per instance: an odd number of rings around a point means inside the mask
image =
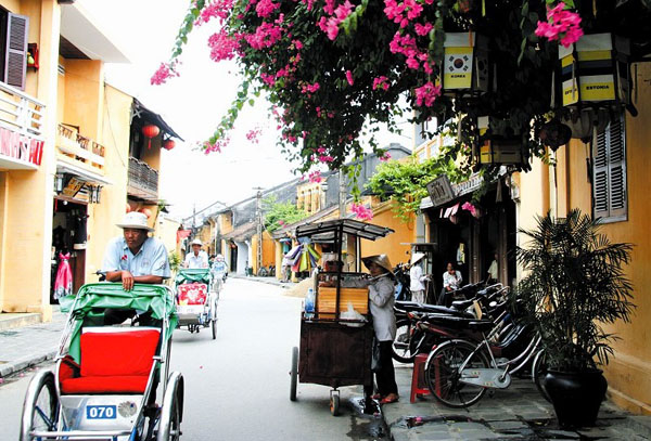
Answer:
MULTIPOLYGON (((73 282, 73 293, 86 283, 86 241, 88 206, 68 198, 54 199, 54 218, 52 220, 52 255, 50 303, 59 303, 55 285, 59 270, 67 262, 71 268, 69 277, 73 282)), ((60 281, 67 278, 60 275, 60 281)))

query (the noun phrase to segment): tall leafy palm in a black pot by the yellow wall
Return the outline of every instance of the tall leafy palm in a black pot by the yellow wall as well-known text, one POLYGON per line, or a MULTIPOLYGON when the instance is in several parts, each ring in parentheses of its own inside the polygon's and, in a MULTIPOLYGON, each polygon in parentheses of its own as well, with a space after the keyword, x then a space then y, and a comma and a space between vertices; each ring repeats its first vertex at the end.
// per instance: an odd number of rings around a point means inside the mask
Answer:
POLYGON ((526 276, 518 285, 528 319, 540 334, 548 373, 542 386, 562 427, 593 425, 608 384, 598 368, 616 337, 603 329, 628 322, 634 304, 623 265, 630 244, 612 244, 599 220, 574 209, 566 218, 537 218, 516 248, 526 276))

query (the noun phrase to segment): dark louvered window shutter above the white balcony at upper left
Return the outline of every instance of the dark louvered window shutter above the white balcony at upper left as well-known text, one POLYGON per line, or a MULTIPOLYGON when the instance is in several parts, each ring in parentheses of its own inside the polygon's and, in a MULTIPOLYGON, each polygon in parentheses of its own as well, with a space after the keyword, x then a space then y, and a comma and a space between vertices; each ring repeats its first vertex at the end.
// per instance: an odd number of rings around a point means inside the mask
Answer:
POLYGON ((8 14, 4 82, 25 90, 27 73, 27 29, 29 17, 8 14))

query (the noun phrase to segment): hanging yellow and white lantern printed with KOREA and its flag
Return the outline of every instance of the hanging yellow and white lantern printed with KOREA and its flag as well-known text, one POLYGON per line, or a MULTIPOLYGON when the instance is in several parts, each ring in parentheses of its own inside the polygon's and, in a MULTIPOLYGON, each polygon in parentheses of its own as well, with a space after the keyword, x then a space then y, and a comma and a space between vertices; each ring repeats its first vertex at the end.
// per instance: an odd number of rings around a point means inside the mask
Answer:
POLYGON ((473 33, 446 33, 442 63, 443 93, 473 96, 489 92, 495 81, 488 39, 473 33), (492 78, 493 77, 493 78, 492 78))

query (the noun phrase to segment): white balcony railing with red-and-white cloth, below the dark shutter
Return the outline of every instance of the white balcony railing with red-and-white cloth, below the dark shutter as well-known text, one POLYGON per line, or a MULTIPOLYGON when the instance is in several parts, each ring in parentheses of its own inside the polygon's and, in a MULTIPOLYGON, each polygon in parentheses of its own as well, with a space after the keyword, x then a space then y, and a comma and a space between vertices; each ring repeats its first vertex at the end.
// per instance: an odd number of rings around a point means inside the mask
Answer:
POLYGON ((35 98, 0 82, 0 168, 38 168, 44 144, 44 108, 35 98))

